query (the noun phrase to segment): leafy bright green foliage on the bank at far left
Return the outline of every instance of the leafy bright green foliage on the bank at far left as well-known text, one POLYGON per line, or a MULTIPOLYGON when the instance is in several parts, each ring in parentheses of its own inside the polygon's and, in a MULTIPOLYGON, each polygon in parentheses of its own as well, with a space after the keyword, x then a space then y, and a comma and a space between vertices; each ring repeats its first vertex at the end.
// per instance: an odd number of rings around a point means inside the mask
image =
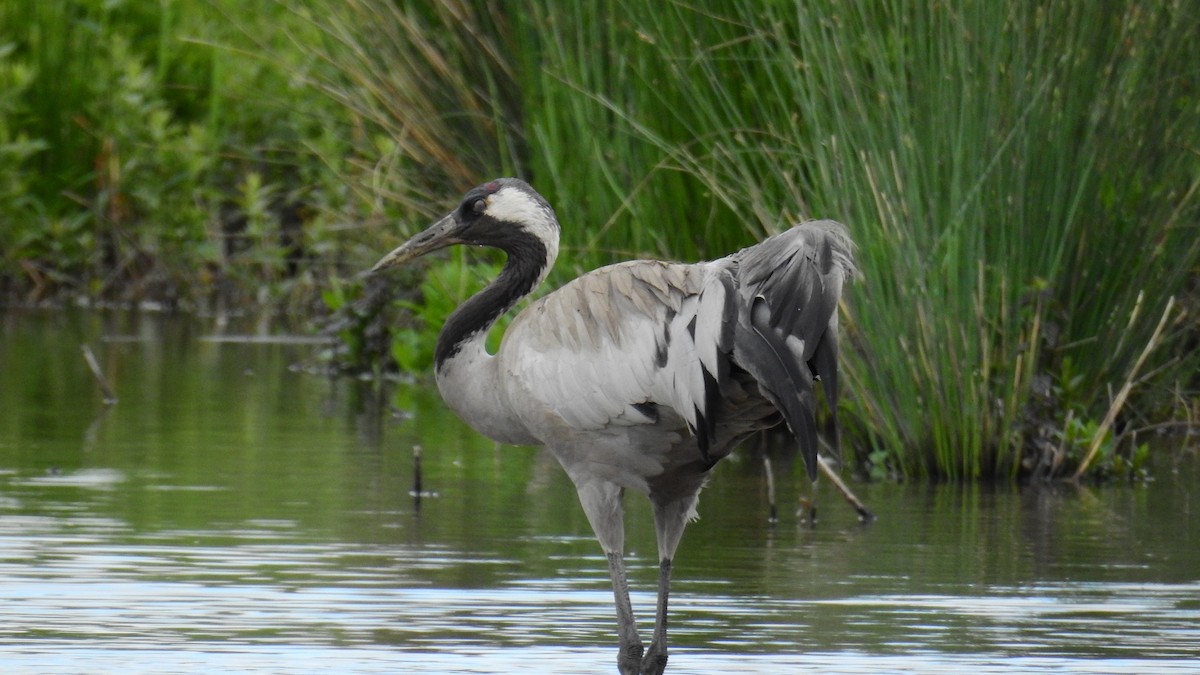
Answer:
POLYGON ((0 5, 0 291, 205 304, 305 285, 344 110, 283 5, 0 5))

